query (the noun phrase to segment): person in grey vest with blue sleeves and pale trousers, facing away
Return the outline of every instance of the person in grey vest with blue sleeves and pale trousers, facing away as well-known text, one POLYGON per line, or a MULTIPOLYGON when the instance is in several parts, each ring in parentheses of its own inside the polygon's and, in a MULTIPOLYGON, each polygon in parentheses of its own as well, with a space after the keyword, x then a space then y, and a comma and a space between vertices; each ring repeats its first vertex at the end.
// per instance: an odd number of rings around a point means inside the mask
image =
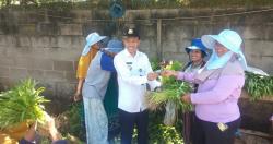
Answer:
POLYGON ((82 88, 87 144, 108 144, 108 119, 103 100, 111 72, 115 71, 112 59, 122 50, 121 41, 118 45, 111 41, 108 48, 96 53, 82 88))

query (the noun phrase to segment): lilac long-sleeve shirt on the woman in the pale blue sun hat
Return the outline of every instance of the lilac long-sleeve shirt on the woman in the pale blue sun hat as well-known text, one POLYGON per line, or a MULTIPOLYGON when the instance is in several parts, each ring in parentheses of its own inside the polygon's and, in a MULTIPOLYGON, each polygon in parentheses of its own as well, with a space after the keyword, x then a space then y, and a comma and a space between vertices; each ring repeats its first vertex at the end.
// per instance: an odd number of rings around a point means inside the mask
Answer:
POLYGON ((205 70, 200 74, 179 72, 177 79, 199 84, 198 92, 190 94, 199 119, 230 122, 240 117, 238 99, 245 84, 245 75, 239 62, 228 62, 212 73, 205 70))

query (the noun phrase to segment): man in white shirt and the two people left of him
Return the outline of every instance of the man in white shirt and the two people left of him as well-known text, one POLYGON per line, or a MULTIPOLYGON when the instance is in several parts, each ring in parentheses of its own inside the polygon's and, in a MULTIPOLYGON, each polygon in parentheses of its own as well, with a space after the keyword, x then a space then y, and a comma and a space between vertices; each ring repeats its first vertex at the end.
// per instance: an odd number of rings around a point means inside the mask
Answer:
POLYGON ((135 28, 128 28, 122 41, 110 40, 107 48, 99 47, 104 38, 97 33, 86 37, 78 65, 79 83, 74 99, 79 100, 81 95, 83 97, 86 141, 88 144, 109 143, 108 127, 111 121, 107 118, 104 100, 108 98, 105 95, 111 75, 117 75, 121 143, 131 143, 136 124, 138 141, 145 144, 149 115, 143 103, 144 94, 147 83, 152 88, 161 85, 156 81, 158 74, 153 72, 147 56, 138 50, 140 35, 135 28))

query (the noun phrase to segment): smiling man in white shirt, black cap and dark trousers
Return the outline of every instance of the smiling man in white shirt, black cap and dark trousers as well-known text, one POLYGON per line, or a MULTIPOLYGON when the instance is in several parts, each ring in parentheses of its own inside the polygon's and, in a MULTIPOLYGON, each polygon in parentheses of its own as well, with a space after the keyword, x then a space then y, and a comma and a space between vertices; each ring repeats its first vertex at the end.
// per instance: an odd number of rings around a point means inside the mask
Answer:
POLYGON ((146 84, 153 89, 159 86, 145 53, 138 50, 140 36, 135 28, 128 28, 123 37, 124 50, 114 58, 119 84, 119 119, 121 144, 131 144, 134 124, 138 143, 147 144, 149 113, 144 105, 146 84))

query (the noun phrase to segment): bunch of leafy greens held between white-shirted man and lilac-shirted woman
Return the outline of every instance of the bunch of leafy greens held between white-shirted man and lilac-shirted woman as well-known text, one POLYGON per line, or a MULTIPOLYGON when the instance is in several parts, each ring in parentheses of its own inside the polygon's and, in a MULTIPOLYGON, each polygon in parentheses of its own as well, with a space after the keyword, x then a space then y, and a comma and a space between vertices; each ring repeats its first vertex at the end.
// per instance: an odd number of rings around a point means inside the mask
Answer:
MULTIPOLYGON (((169 62, 163 70, 181 70, 182 64, 178 61, 169 62)), ((146 105, 149 109, 156 110, 161 108, 166 109, 164 123, 173 125, 177 116, 177 111, 189 111, 192 109, 190 104, 182 103, 180 97, 190 93, 192 87, 189 83, 176 80, 170 76, 162 77, 162 91, 149 92, 146 96, 146 105)))

